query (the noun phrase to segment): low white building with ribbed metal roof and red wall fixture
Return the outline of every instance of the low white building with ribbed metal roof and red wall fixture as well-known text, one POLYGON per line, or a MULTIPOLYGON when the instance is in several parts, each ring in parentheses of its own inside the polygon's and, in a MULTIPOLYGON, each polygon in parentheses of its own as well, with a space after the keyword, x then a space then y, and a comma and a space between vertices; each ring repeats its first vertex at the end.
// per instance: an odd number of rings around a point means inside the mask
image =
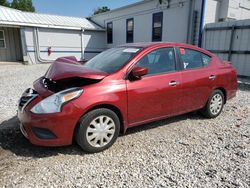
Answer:
POLYGON ((105 49, 105 30, 85 18, 27 13, 0 6, 0 61, 90 59, 105 49))

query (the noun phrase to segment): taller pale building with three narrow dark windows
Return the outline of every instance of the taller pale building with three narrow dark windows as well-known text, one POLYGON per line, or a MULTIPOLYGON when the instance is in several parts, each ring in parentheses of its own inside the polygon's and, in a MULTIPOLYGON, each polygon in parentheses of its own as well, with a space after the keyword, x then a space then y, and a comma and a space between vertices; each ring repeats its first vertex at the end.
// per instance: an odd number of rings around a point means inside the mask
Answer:
POLYGON ((197 45, 203 26, 249 19, 250 0, 144 0, 92 21, 107 28, 107 47, 129 42, 173 41, 197 45))

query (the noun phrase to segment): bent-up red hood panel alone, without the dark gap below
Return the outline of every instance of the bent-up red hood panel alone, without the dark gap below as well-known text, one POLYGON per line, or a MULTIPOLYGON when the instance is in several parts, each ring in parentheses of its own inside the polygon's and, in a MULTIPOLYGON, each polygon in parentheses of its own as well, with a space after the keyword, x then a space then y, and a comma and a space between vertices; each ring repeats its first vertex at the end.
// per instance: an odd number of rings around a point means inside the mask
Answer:
POLYGON ((72 77, 102 80, 106 76, 106 72, 84 67, 75 57, 58 58, 45 74, 45 78, 55 81, 72 77))

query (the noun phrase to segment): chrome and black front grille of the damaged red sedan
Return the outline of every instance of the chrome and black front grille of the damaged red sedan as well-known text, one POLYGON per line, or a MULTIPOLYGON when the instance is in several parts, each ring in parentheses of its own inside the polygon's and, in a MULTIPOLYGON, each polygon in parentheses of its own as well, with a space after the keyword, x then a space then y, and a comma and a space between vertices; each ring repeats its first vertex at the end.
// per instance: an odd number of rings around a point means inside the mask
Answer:
POLYGON ((36 97, 38 96, 38 93, 29 88, 27 89, 23 94, 22 97, 19 100, 18 103, 18 108, 21 112, 23 112, 24 108, 32 101, 34 100, 36 97))

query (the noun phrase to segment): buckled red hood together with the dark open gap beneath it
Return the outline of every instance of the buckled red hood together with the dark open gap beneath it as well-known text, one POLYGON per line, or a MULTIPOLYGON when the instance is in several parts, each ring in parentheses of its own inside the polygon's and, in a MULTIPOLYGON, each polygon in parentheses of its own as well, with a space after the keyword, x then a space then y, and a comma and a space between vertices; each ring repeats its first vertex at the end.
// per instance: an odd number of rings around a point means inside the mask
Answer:
POLYGON ((84 67, 75 57, 58 58, 46 74, 33 83, 34 89, 42 97, 73 88, 83 87, 102 81, 108 73, 84 67))

